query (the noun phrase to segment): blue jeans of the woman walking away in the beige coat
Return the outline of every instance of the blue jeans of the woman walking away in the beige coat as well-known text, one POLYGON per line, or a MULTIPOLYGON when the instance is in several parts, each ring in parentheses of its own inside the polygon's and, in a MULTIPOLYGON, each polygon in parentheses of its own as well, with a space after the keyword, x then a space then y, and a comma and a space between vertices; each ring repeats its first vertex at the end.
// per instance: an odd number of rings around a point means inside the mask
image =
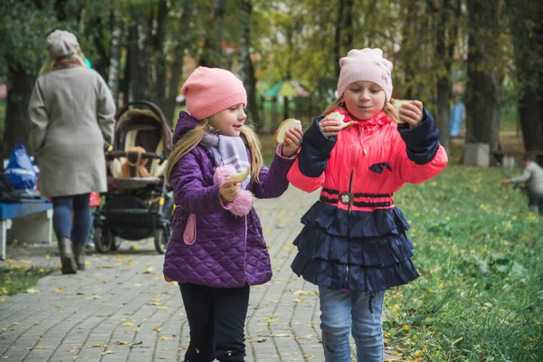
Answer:
POLYGON ((89 195, 52 197, 52 228, 58 240, 66 237, 72 243, 85 246, 92 224, 89 195))

